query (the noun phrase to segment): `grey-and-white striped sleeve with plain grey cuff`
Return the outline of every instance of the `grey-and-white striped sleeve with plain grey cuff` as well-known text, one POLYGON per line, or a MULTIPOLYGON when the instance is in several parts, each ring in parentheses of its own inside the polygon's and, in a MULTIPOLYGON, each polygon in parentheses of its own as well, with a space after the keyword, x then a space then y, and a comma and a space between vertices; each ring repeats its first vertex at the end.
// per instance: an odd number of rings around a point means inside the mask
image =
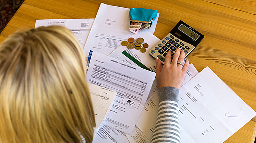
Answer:
POLYGON ((179 90, 174 87, 163 87, 159 90, 159 107, 152 143, 181 142, 178 116, 179 90))

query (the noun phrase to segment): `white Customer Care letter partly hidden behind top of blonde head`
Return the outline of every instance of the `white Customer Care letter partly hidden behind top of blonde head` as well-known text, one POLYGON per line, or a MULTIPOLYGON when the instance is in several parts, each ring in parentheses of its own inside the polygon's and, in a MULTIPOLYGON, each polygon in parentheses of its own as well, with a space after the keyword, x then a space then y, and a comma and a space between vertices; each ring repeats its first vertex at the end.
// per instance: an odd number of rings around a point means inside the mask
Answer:
POLYGON ((77 38, 81 47, 87 40, 94 19, 45 19, 36 20, 35 28, 40 26, 59 25, 69 29, 77 38))

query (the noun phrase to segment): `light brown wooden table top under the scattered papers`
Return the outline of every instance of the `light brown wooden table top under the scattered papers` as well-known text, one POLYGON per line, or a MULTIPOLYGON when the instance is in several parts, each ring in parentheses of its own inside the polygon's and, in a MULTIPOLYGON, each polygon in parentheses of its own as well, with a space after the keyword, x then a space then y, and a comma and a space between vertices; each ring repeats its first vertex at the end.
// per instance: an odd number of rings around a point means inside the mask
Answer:
MULTIPOLYGON (((198 71, 209 66, 242 100, 256 110, 256 1, 26 0, 0 35, 2 42, 36 19, 95 18, 100 3, 156 9, 155 36, 162 39, 183 20, 205 38, 188 56, 198 71)), ((254 142, 254 117, 225 142, 254 142)))

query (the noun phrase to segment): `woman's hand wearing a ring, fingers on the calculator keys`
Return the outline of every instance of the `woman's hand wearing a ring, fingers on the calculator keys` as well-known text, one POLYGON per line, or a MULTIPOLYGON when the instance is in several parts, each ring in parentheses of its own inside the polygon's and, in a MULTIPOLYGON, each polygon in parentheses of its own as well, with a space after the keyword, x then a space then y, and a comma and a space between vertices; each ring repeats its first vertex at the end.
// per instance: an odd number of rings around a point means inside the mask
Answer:
POLYGON ((180 89, 189 65, 188 59, 186 59, 186 62, 183 67, 182 67, 182 64, 179 64, 179 62, 183 63, 184 57, 185 57, 184 50, 180 50, 180 48, 178 48, 171 62, 171 51, 168 51, 165 57, 163 69, 161 68, 160 59, 159 58, 156 59, 158 89, 161 89, 162 87, 167 87, 167 86, 180 89))

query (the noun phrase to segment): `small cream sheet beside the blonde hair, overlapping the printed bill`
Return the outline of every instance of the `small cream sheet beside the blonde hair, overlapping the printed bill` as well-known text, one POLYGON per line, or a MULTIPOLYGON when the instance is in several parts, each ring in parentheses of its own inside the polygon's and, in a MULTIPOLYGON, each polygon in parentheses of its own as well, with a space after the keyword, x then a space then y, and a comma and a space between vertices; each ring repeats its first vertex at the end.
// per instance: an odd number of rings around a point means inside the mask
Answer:
POLYGON ((101 122, 109 113, 110 105, 113 104, 117 92, 90 83, 88 83, 88 87, 96 121, 96 127, 94 130, 97 131, 101 122))

